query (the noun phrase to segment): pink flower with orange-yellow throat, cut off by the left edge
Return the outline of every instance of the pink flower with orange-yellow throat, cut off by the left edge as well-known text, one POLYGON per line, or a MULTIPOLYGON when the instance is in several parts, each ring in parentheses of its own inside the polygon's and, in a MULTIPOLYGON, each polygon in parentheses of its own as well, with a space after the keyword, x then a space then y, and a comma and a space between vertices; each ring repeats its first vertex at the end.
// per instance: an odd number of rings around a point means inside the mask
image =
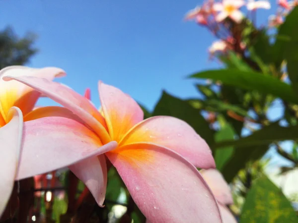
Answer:
POLYGON ((5 82, 2 77, 26 75, 52 80, 64 74, 63 70, 54 67, 9 66, 0 70, 0 168, 5 169, 0 172, 0 216, 10 197, 18 168, 23 117, 28 119, 40 97, 34 89, 17 81, 5 82))

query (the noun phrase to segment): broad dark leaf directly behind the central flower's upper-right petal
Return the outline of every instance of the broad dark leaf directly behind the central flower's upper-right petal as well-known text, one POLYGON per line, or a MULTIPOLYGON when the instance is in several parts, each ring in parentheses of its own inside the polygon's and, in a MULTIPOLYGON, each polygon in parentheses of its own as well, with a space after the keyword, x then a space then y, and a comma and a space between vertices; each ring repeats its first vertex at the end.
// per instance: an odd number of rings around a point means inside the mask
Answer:
POLYGON ((210 145, 214 142, 214 131, 201 115, 200 110, 193 108, 187 101, 162 93, 153 111, 155 115, 169 115, 186 121, 210 145))

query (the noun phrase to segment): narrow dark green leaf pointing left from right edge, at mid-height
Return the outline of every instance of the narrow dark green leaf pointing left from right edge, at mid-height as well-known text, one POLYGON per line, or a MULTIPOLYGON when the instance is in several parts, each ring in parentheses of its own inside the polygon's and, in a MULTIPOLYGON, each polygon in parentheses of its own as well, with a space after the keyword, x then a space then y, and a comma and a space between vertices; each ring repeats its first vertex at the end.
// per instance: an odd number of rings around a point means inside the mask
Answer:
POLYGON ((229 140, 214 144, 215 148, 224 148, 227 146, 236 146, 243 148, 247 146, 269 145, 273 142, 284 140, 298 140, 298 126, 283 127, 275 122, 269 126, 255 131, 251 135, 238 140, 229 140))

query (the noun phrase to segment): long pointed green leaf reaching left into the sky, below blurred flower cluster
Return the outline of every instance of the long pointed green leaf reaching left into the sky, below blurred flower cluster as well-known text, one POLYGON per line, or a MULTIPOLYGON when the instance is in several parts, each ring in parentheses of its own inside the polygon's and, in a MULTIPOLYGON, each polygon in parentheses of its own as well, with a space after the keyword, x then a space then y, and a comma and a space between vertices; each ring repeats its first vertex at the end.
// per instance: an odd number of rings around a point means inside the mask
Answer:
POLYGON ((208 70, 191 75, 192 78, 208 78, 246 90, 257 90, 272 94, 288 102, 298 104, 298 97, 290 85, 258 72, 247 72, 236 69, 208 70))

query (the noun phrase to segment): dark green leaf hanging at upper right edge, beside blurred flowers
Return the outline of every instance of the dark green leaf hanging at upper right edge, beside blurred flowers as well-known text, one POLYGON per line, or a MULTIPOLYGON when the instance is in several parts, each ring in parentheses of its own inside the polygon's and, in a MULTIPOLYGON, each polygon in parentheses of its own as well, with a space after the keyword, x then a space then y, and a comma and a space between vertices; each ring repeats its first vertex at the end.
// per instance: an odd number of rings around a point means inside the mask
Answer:
POLYGON ((279 28, 272 54, 272 61, 274 61, 276 67, 280 67, 282 61, 285 59, 287 45, 291 42, 293 32, 297 32, 297 19, 298 7, 295 7, 279 28))

